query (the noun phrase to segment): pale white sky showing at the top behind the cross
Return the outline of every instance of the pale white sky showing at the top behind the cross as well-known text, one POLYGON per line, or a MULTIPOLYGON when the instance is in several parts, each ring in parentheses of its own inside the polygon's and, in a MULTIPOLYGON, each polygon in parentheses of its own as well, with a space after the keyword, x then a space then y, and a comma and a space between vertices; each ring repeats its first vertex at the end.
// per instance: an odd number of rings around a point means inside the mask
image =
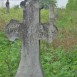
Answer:
MULTIPOLYGON (((1 1, 0 0, 0 6, 1 6, 1 1)), ((13 7, 14 5, 19 5, 21 1, 23 0, 18 0, 18 1, 15 1, 15 0, 9 0, 10 1, 10 7, 13 7)), ((4 4, 5 4, 6 0, 4 1, 4 4)), ((68 0, 57 0, 57 6, 60 7, 60 8, 64 8, 67 4, 68 0)))

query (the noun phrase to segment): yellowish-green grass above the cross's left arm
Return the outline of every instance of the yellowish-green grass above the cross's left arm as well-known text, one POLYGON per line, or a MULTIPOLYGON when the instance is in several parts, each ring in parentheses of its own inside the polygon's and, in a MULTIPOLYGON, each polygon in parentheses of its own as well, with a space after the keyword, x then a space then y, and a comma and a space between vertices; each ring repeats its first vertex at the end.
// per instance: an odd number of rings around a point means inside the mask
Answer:
POLYGON ((5 25, 11 20, 17 19, 22 21, 22 9, 11 8, 10 13, 6 12, 6 8, 0 8, 0 30, 5 28, 5 25))

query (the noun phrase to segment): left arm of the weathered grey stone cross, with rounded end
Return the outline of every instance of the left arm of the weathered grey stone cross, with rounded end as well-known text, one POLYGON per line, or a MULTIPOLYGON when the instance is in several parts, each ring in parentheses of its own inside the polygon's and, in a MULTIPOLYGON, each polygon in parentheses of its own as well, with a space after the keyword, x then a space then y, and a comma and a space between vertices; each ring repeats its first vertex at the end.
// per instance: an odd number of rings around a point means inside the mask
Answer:
POLYGON ((10 41, 14 41, 17 38, 20 38, 22 32, 22 23, 19 21, 11 19, 10 22, 6 25, 6 35, 10 41))

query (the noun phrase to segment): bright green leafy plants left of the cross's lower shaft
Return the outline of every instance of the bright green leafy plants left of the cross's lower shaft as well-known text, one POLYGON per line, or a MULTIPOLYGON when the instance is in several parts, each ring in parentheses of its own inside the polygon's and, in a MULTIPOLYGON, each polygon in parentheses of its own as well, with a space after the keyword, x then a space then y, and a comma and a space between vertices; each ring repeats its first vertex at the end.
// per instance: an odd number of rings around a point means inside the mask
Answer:
POLYGON ((20 61, 20 41, 10 42, 0 32, 0 77, 14 77, 20 61))

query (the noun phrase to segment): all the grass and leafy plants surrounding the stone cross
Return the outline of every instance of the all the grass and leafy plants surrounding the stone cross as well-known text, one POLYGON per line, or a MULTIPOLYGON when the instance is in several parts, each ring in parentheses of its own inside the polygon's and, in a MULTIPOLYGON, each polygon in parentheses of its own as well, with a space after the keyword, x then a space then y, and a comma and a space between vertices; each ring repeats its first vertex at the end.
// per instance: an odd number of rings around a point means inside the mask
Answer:
MULTIPOLYGON (((22 9, 7 14, 0 9, 0 77, 14 77, 20 61, 21 41, 10 42, 4 27, 11 18, 22 21, 22 9), (2 32, 3 31, 3 32, 2 32)), ((52 44, 41 41, 41 63, 45 77, 77 77, 77 11, 59 9, 58 35, 52 44)), ((41 11, 41 22, 48 22, 48 10, 41 11)))

